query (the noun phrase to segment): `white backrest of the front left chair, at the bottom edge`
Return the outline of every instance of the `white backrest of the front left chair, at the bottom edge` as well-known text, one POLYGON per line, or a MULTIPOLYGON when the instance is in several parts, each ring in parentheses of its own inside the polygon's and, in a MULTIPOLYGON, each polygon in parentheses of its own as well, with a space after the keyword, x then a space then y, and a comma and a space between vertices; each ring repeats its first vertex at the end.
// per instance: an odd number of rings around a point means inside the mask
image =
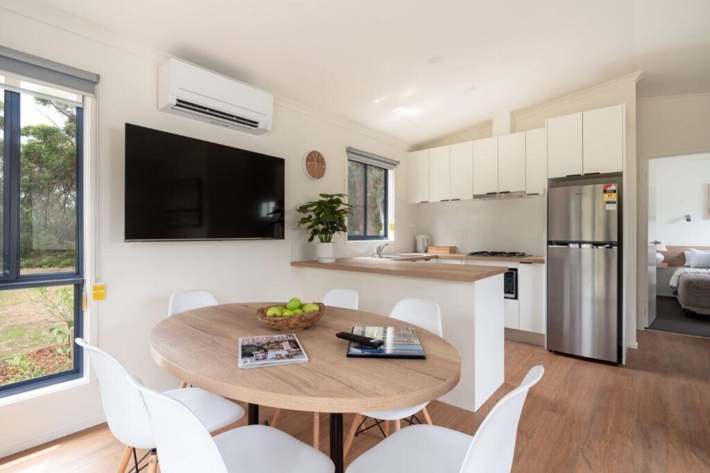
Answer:
POLYGON ((228 473, 222 455, 200 419, 180 401, 153 391, 128 375, 133 393, 142 396, 155 432, 163 473, 228 473))

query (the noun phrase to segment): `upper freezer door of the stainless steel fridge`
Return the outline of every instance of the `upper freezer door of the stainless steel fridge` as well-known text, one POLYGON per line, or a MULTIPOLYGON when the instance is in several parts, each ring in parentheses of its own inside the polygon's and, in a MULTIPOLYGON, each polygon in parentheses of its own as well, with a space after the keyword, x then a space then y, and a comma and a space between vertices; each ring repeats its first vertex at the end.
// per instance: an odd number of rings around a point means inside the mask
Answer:
MULTIPOLYGON (((610 182, 609 184, 618 183, 610 182)), ((603 201, 605 184, 552 187, 547 194, 547 240, 618 241, 618 210, 603 201)))

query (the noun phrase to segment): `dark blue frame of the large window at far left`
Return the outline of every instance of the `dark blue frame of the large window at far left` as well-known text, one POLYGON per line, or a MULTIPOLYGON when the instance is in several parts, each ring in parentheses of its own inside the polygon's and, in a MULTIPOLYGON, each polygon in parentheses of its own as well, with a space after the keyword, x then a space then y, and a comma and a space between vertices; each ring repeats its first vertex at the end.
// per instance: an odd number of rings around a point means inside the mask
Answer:
MULTIPOLYGON (((1 86, 0 86, 1 88, 1 86)), ((26 94, 32 96, 32 94, 26 94)), ((21 94, 4 90, 5 140, 3 262, 0 291, 34 287, 74 286, 73 338, 84 333, 84 108, 76 107, 76 247, 74 272, 21 274, 20 272, 20 159, 21 159, 21 94)), ((83 350, 73 343, 74 367, 70 370, 24 379, 0 386, 0 398, 39 389, 84 376, 83 350)), ((1 360, 0 360, 1 362, 1 360)))

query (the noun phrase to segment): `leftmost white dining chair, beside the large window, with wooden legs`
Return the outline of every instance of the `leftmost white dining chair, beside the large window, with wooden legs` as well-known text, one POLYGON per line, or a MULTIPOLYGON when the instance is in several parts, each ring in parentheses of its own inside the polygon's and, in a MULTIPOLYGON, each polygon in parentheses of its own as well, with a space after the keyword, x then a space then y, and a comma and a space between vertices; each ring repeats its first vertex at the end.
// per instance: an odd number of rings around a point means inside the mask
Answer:
MULTIPOLYGON (((96 372, 104 415, 109 429, 116 439, 126 445, 116 472, 124 473, 126 471, 126 465, 131 460, 131 456, 136 468, 145 459, 143 457, 140 461, 138 460, 136 448, 148 450, 146 456, 150 455, 151 457, 148 465, 150 467, 155 464, 157 453, 155 452, 155 436, 151 428, 151 421, 145 406, 143 406, 141 396, 126 379, 128 372, 116 358, 104 350, 89 345, 83 338, 77 338, 75 341, 89 355, 89 360, 96 372)), ((241 406, 217 396, 217 394, 204 391, 204 389, 173 389, 166 391, 165 395, 190 406, 192 412, 200 418, 205 428, 210 432, 239 421, 244 416, 244 409, 241 406)), ((148 471, 151 471, 150 468, 148 471)))

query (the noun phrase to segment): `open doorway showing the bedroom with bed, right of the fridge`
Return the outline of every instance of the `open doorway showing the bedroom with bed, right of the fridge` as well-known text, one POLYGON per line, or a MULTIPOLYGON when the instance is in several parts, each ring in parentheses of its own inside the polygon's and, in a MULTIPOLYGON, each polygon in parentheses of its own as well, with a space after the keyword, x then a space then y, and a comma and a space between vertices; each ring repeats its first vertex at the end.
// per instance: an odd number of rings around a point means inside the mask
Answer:
POLYGON ((648 163, 649 330, 710 338, 710 153, 648 163))

